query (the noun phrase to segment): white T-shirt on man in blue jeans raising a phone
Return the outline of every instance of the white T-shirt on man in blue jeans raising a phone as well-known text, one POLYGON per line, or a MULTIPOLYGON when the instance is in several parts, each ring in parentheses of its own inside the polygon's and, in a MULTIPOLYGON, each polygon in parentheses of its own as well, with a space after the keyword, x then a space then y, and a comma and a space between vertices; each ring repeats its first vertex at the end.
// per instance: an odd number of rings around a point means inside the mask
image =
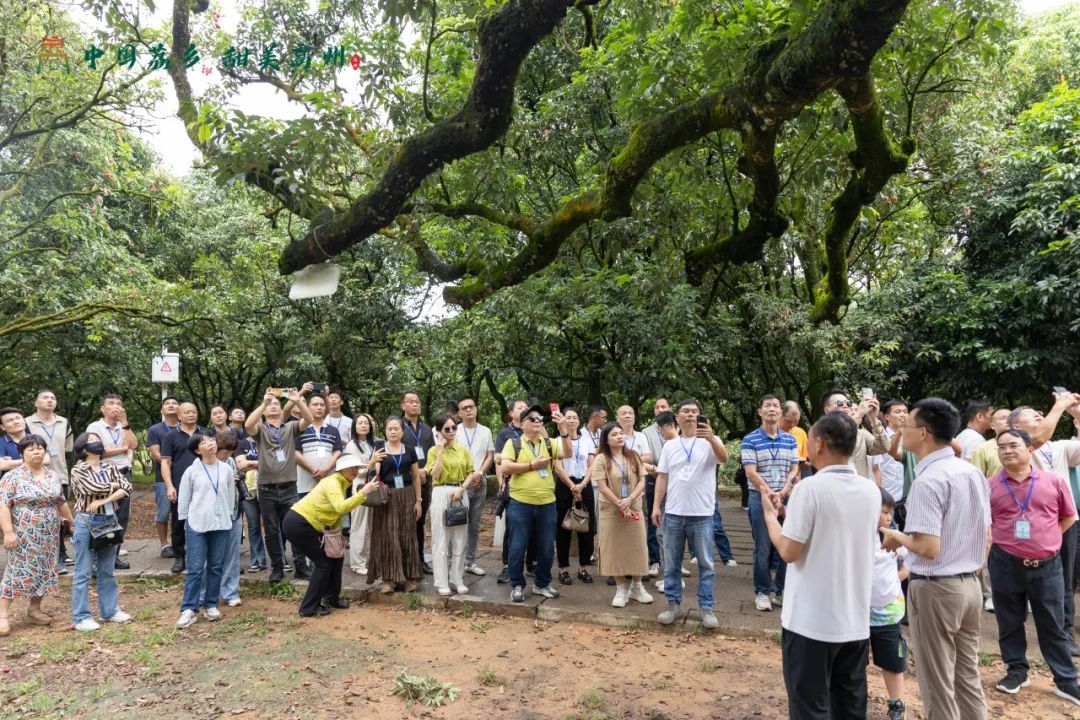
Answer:
POLYGON ((701 439, 677 437, 664 444, 657 472, 667 475, 669 515, 703 517, 716 511, 716 453, 701 439))

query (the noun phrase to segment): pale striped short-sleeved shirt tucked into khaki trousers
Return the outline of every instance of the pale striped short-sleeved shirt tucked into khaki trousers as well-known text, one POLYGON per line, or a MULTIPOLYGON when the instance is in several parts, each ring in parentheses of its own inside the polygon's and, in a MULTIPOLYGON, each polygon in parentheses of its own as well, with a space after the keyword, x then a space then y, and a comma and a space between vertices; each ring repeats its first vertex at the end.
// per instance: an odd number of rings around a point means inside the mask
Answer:
POLYGON ((904 531, 941 540, 937 558, 912 553, 907 567, 928 578, 976 572, 986 556, 990 525, 990 489, 974 465, 960 460, 951 447, 934 450, 915 467, 907 493, 904 531))

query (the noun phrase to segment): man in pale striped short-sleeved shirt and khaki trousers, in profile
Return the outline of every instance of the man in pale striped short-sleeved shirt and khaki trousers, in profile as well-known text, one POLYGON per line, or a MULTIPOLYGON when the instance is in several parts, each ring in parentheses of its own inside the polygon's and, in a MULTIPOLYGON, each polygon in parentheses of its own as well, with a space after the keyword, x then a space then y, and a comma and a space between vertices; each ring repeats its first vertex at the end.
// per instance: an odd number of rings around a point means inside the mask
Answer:
POLYGON ((953 451, 959 426, 960 412, 946 400, 915 404, 901 431, 904 448, 919 459, 905 532, 881 530, 886 549, 909 552, 908 615, 930 720, 985 720, 987 712, 978 676, 983 594, 975 573, 989 545, 989 487, 953 451))

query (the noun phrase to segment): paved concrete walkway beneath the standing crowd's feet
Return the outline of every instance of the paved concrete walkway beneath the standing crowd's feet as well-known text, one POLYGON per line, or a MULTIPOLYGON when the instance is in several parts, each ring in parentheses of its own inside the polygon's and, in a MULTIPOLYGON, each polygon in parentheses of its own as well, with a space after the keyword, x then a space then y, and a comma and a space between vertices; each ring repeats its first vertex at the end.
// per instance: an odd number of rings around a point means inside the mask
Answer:
MULTIPOLYGON (((780 608, 772 612, 759 612, 754 608, 753 581, 751 578, 751 559, 753 555, 753 541, 751 539, 750 521, 746 512, 739 507, 738 500, 721 498, 720 512, 724 516, 725 527, 731 541, 738 567, 729 568, 717 566, 716 568, 716 590, 715 590, 715 612, 719 620, 719 631, 727 635, 739 636, 775 636, 780 631, 780 608)), ((484 542, 490 536, 482 538, 484 542)), ((134 582, 139 578, 177 578, 170 572, 172 560, 159 557, 158 544, 154 540, 132 540, 124 543, 129 551, 125 558, 132 566, 131 570, 118 570, 117 575, 121 582, 134 582)), ((241 566, 247 567, 247 544, 243 545, 243 558, 241 566)), ((430 548, 429 548, 430 554, 430 548)), ((430 556, 429 556, 430 559, 430 556)), ((3 562, 3 552, 0 549, 0 565, 3 562)), ((484 578, 465 575, 465 584, 469 585, 469 594, 455 595, 449 598, 438 596, 432 586, 431 576, 427 575, 420 583, 420 602, 429 608, 457 609, 464 603, 469 603, 473 609, 484 612, 491 612, 503 615, 537 617, 545 621, 556 622, 582 622, 611 627, 638 627, 660 629, 664 626, 656 622, 657 614, 664 609, 666 600, 662 593, 656 589, 650 581, 647 588, 652 594, 654 600, 651 604, 639 604, 631 601, 625 608, 612 608, 611 598, 615 588, 608 586, 604 578, 596 576, 596 582, 584 584, 575 579, 572 585, 558 585, 557 569, 556 579, 553 580, 555 587, 562 593, 562 597, 556 599, 545 599, 528 594, 526 588, 525 602, 510 601, 510 586, 500 585, 496 582, 499 570, 502 567, 501 549, 499 547, 487 548, 480 557, 480 565, 487 571, 484 578)), ((683 590, 683 616, 672 626, 676 631, 696 631, 699 625, 698 601, 697 601, 697 565, 689 562, 687 558, 685 567, 691 570, 691 575, 686 578, 686 587, 683 590)), ((595 570, 595 567, 592 568, 595 570)), ((576 573, 577 563, 571 561, 571 573, 576 573)), ((252 581, 266 581, 268 572, 248 573, 241 575, 241 583, 252 581)), ((286 576, 292 576, 286 573, 286 576)), ((70 575, 62 578, 69 582, 70 575)), ((402 602, 402 595, 395 594, 383 596, 373 588, 360 576, 349 570, 348 565, 345 570, 343 587, 345 594, 353 599, 366 600, 369 602, 402 602)), ((529 579, 526 579, 529 580, 529 579)), ((306 586, 306 582, 293 581, 299 587, 306 586)), ((243 587, 241 588, 243 594, 243 587)), ((997 624, 989 613, 983 614, 983 642, 982 649, 988 654, 998 654, 997 624)), ((1037 654, 1038 642, 1035 637, 1034 624, 1028 621, 1028 647, 1032 655, 1037 654)))

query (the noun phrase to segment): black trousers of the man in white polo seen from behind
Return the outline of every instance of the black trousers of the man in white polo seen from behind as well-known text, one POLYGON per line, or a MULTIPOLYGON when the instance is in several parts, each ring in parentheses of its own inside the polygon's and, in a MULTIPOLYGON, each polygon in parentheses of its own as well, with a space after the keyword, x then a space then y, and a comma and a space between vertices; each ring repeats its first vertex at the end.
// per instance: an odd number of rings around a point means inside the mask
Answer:
POLYGON ((821 642, 787 629, 782 637, 788 717, 865 720, 869 638, 821 642))

